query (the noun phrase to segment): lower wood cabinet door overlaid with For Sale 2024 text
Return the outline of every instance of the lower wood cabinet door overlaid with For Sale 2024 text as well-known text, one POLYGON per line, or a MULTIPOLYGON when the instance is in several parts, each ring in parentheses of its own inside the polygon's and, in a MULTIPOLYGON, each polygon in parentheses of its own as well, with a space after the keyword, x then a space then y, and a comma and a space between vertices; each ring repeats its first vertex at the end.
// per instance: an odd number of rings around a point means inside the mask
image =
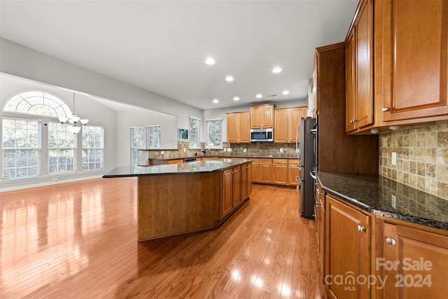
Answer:
POLYGON ((377 275, 386 278, 377 298, 446 298, 448 237, 384 223, 377 275))

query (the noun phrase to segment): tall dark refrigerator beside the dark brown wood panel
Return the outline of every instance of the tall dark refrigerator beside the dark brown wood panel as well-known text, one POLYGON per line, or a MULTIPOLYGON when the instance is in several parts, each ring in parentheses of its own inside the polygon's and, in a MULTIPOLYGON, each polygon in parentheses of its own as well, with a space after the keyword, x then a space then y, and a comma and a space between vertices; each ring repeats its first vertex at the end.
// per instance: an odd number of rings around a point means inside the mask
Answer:
POLYGON ((300 141, 297 152, 300 163, 297 167, 300 170, 300 216, 314 218, 315 181, 313 172, 316 170, 316 118, 302 118, 299 131, 300 141))

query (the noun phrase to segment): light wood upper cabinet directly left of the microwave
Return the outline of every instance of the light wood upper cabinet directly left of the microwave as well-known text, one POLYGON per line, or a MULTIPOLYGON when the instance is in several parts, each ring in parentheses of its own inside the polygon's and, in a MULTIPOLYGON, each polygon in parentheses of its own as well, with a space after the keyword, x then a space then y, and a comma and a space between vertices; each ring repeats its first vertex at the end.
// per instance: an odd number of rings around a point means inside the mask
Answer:
POLYGON ((227 141, 230 144, 248 144, 251 142, 251 115, 248 112, 226 113, 227 141))

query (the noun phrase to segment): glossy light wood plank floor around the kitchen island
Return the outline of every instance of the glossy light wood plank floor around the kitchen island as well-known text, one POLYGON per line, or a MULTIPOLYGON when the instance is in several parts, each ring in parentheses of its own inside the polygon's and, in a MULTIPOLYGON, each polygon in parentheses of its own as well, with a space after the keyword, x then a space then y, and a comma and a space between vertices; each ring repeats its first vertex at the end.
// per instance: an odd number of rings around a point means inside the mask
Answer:
POLYGON ((137 179, 0 193, 0 298, 321 298, 314 222, 253 186, 216 230, 137 242, 137 179))

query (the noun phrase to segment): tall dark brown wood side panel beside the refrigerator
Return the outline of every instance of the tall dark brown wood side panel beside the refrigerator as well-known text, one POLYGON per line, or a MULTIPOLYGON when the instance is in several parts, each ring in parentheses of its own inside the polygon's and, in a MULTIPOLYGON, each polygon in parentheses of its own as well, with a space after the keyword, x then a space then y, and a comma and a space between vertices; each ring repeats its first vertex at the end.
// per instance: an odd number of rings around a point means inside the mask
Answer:
POLYGON ((314 60, 319 171, 378 174, 378 136, 353 136, 344 130, 345 43, 316 48, 314 60))

